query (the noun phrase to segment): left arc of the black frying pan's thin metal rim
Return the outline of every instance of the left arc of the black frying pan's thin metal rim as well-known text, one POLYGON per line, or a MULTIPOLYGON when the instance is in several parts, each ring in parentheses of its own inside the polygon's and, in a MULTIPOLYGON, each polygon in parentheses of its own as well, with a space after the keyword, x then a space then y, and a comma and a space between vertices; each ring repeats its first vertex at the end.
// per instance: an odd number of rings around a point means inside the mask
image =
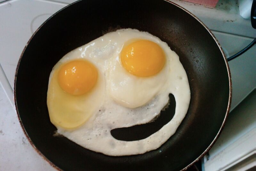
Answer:
POLYGON ((65 6, 65 7, 63 7, 63 8, 61 8, 59 11, 55 12, 54 14, 52 14, 52 16, 50 16, 47 20, 45 20, 44 23, 41 24, 41 26, 36 29, 36 31, 34 32, 34 34, 33 34, 33 35, 30 37, 30 39, 28 40, 28 43, 25 45, 23 51, 21 52, 21 55, 20 55, 20 58, 19 58, 19 61, 18 61, 17 67, 16 67, 15 76, 14 76, 14 90, 13 90, 13 97, 14 97, 14 99, 13 99, 13 100, 14 100, 14 104, 15 104, 15 109, 16 109, 16 113, 17 113, 17 116, 18 116, 18 120, 19 120, 19 122, 20 122, 20 126, 21 126, 21 128, 22 128, 22 130, 23 130, 25 136, 27 137, 28 142, 32 145, 32 147, 36 150, 36 152, 37 152, 45 161, 47 161, 53 168, 55 168, 56 170, 59 170, 59 171, 62 171, 62 169, 60 169, 58 166, 56 166, 55 164, 53 164, 48 158, 46 158, 46 157, 44 156, 44 154, 43 154, 42 152, 40 152, 40 151, 36 148, 35 144, 32 142, 32 140, 31 140, 30 137, 28 136, 28 133, 27 133, 27 131, 25 130, 23 124, 22 124, 22 121, 21 121, 21 119, 20 119, 20 113, 19 113, 19 111, 18 111, 17 101, 16 101, 16 80, 17 80, 17 73, 18 73, 18 70, 19 70, 21 58, 22 58, 22 56, 23 56, 25 50, 27 49, 28 44, 30 43, 30 41, 32 40, 32 38, 35 36, 35 34, 37 33, 37 31, 38 31, 49 19, 51 19, 54 15, 56 15, 56 14, 59 13, 60 11, 64 10, 64 9, 67 8, 68 6, 70 6, 70 5, 72 5, 72 4, 75 4, 75 3, 79 2, 79 1, 82 1, 82 0, 78 0, 78 1, 76 1, 76 2, 74 2, 74 3, 71 3, 71 4, 69 4, 69 5, 67 5, 67 6, 65 6))

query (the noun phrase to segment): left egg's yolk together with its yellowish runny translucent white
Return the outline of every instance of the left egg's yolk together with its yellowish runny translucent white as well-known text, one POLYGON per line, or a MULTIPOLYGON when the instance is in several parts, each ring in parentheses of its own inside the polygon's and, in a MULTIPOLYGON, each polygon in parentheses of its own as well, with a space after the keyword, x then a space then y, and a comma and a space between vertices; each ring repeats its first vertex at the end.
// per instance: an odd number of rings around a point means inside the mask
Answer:
POLYGON ((79 127, 100 108, 105 79, 84 59, 62 58, 53 71, 47 92, 50 120, 64 129, 79 127))

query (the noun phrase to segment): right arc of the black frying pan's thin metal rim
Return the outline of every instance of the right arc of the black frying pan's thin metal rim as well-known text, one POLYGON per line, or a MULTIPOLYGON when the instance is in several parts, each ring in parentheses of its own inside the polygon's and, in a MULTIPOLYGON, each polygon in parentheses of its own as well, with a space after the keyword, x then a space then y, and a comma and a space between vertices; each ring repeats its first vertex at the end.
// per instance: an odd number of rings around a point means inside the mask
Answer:
POLYGON ((185 12, 187 12, 188 14, 190 14, 192 17, 194 17, 197 21, 199 21, 203 26, 204 28, 212 35, 212 38, 215 40, 215 42, 217 43, 217 45, 219 46, 220 48, 220 51, 221 51, 221 54, 224 58, 224 61, 225 61, 225 64, 226 64, 226 67, 227 67, 227 71, 228 71, 228 81, 229 81, 229 98, 228 98, 228 107, 227 107, 227 112, 226 112, 226 115, 224 117, 224 120, 221 124, 221 127, 220 127, 220 130, 219 132, 217 133, 217 135, 215 136, 215 138, 213 139, 212 143, 207 147, 207 149, 198 157, 196 158, 192 163, 190 163, 188 166, 184 167, 182 169, 182 171, 184 170, 187 170, 189 167, 191 167, 193 164, 195 164, 199 159, 201 159, 202 157, 204 157, 204 155, 212 148, 213 144, 216 142, 216 140, 218 139, 218 137, 220 136, 220 133, 221 131, 223 130, 223 127, 226 123, 226 120, 227 120, 227 117, 228 117, 228 114, 229 114, 229 111, 230 111, 230 106, 231 106, 231 98, 232 98, 232 82, 231 82, 231 73, 230 73, 230 69, 229 69, 229 66, 228 66, 228 60, 226 58, 226 55, 219 43, 219 41, 216 39, 216 37, 213 35, 213 33, 211 32, 211 30, 199 19, 197 18, 193 13, 189 12, 187 9, 181 7, 180 5, 178 4, 175 4, 173 2, 171 2, 170 0, 164 0, 166 2, 169 2, 177 7, 179 7, 180 9, 184 10, 185 12))

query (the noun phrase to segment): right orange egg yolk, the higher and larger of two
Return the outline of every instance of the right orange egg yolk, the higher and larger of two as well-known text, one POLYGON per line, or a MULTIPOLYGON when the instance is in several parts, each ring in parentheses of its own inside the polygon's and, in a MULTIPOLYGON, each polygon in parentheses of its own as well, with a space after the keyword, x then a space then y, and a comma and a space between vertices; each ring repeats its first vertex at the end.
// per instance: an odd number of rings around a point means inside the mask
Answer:
POLYGON ((126 45, 120 57, 124 68, 139 77, 157 74, 165 63, 162 48, 149 40, 138 40, 126 45))

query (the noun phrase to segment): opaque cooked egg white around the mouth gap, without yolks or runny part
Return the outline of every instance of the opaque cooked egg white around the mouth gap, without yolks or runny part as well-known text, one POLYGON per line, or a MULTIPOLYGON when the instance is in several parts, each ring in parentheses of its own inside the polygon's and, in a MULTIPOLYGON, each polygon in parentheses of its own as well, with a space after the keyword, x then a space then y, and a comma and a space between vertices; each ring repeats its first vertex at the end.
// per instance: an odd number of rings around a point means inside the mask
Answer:
POLYGON ((154 150, 175 133, 187 113, 190 89, 179 56, 166 43, 147 32, 120 29, 69 52, 54 68, 75 59, 91 61, 102 75, 102 80, 98 82, 101 87, 101 94, 97 94, 100 97, 97 98, 99 103, 91 103, 94 112, 80 127, 68 130, 57 126, 58 133, 84 148, 111 156, 142 154, 154 150), (122 67, 120 52, 126 42, 135 39, 153 41, 163 49, 166 61, 158 74, 137 78, 122 67), (151 86, 147 89, 147 85, 151 86), (134 89, 135 96, 130 97, 134 89), (121 141, 111 136, 112 129, 144 124, 154 119, 168 103, 170 93, 176 100, 175 115, 159 131, 138 141, 121 141))

